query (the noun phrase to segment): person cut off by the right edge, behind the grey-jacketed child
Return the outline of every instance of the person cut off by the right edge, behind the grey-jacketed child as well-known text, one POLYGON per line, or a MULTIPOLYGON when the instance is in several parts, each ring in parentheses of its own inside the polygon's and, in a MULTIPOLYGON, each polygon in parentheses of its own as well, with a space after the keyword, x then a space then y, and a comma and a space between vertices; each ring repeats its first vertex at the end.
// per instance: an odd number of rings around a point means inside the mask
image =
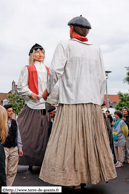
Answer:
MULTIPOLYGON (((122 112, 123 112, 122 118, 129 129, 129 109, 127 107, 123 107, 122 112)), ((124 159, 125 161, 127 160, 127 163, 129 164, 129 134, 128 137, 126 138, 124 159)))

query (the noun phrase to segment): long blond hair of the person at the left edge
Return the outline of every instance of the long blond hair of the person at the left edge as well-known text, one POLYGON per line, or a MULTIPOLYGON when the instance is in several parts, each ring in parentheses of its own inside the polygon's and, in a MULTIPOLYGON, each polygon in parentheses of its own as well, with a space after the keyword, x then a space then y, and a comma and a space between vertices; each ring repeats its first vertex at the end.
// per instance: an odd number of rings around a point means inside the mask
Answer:
POLYGON ((0 105, 0 141, 4 143, 8 135, 7 111, 0 105))

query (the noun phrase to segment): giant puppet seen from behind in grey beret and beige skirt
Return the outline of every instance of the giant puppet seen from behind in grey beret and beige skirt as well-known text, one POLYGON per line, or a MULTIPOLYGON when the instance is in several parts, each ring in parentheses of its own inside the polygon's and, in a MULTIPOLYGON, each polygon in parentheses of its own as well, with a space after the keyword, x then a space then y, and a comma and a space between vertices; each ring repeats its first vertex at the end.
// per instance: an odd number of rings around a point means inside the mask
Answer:
POLYGON ((107 182, 116 177, 101 105, 106 78, 101 51, 86 35, 82 16, 68 23, 70 40, 61 41, 49 69, 44 99, 59 81, 59 106, 40 171, 56 185, 107 182))

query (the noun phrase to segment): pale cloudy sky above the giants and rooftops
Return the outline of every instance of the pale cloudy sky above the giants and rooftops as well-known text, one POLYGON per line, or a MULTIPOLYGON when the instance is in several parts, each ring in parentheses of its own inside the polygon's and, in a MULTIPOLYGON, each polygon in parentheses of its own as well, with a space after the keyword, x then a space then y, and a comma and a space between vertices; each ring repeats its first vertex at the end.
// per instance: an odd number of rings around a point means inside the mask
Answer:
POLYGON ((112 71, 108 93, 128 92, 123 83, 129 65, 128 10, 128 0, 1 0, 0 93, 18 82, 33 44, 45 48, 44 63, 50 66, 58 42, 69 39, 68 21, 79 15, 90 21, 89 42, 100 47, 105 70, 112 71))

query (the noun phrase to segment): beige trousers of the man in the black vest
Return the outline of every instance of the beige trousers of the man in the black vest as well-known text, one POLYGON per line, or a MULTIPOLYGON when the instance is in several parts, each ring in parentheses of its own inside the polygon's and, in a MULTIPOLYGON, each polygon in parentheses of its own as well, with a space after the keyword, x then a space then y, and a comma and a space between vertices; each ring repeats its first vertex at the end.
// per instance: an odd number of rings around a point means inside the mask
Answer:
POLYGON ((5 172, 7 186, 12 186, 17 174, 17 165, 19 160, 18 147, 6 148, 5 151, 5 172))

